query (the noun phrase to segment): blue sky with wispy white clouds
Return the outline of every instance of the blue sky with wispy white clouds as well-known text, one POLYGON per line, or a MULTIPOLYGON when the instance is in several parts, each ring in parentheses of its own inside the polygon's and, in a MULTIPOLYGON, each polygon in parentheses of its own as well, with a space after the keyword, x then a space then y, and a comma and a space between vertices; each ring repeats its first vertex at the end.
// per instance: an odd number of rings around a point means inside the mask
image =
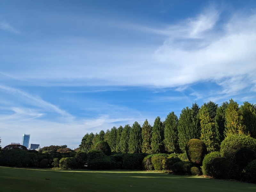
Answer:
POLYGON ((1 145, 255 103, 255 23, 254 0, 0 0, 1 145))

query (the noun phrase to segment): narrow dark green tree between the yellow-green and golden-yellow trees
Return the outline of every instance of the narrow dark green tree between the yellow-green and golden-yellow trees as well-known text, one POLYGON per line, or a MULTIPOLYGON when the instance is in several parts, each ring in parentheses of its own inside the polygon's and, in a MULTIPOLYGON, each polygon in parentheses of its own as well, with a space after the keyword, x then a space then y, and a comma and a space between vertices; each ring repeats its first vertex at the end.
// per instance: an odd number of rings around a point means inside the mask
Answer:
POLYGON ((225 101, 222 105, 216 110, 216 116, 214 117, 215 127, 218 129, 220 135, 220 142, 225 139, 225 111, 228 107, 228 102, 225 101))

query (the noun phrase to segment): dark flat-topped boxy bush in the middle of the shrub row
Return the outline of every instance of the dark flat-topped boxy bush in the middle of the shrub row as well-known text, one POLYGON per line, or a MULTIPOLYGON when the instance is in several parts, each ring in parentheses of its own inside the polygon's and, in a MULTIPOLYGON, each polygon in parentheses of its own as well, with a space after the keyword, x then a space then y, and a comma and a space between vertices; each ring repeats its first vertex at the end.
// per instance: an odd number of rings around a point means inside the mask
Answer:
POLYGON ((142 161, 145 157, 143 153, 126 153, 123 155, 124 169, 141 169, 142 161))

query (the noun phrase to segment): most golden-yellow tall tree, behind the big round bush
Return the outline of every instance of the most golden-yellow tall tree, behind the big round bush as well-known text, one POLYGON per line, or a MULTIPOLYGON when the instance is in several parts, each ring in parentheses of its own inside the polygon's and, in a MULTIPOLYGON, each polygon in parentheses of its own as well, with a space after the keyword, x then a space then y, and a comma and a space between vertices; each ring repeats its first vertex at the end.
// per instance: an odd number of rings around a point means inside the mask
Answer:
POLYGON ((228 106, 225 110, 225 135, 226 137, 232 134, 245 134, 246 128, 243 124, 243 116, 238 108, 238 103, 234 100, 229 100, 228 106))

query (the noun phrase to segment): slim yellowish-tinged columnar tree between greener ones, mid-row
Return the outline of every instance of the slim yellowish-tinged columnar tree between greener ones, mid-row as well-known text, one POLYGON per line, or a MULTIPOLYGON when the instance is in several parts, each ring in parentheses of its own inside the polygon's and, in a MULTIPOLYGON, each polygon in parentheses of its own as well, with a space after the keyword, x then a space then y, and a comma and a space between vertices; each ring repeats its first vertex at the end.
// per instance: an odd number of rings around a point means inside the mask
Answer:
POLYGON ((146 153, 151 149, 151 138, 152 138, 152 126, 148 123, 146 119, 142 125, 142 153, 146 153))

